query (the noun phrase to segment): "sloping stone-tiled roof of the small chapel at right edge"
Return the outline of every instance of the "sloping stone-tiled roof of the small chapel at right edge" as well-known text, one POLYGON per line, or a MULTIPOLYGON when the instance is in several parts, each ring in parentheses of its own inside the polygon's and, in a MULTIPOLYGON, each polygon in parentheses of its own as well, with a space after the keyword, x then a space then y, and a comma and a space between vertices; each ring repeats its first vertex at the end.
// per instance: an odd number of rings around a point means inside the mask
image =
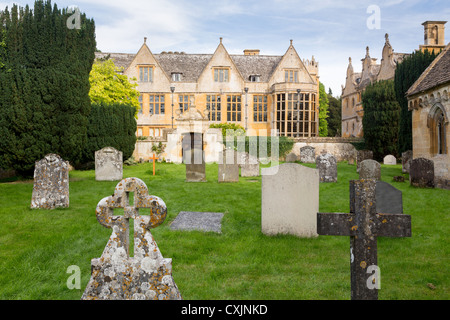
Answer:
POLYGON ((406 96, 412 96, 448 82, 450 82, 450 43, 406 91, 406 96))

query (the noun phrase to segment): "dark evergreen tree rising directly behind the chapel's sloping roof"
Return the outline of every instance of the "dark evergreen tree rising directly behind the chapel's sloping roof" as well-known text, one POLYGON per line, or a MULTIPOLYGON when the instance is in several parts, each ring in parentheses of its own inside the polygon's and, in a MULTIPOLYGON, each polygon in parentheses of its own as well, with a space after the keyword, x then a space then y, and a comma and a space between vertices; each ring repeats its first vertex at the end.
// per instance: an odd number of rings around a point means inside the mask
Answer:
POLYGON ((395 96, 401 107, 399 136, 398 136, 398 154, 407 150, 412 150, 412 113, 408 111, 408 100, 406 91, 420 77, 430 63, 436 58, 436 54, 415 51, 406 57, 397 65, 395 70, 395 96))

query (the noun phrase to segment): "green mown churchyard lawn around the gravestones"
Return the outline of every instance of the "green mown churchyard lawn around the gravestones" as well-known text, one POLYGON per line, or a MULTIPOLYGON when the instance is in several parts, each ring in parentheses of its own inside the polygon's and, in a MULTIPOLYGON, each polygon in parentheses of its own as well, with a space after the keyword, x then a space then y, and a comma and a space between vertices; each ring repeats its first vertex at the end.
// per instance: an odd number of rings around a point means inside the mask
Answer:
MULTIPOLYGON (((349 237, 263 235, 261 177, 218 183, 217 170, 208 164, 207 182, 186 183, 183 165, 157 163, 156 176, 151 163, 124 167, 124 178, 142 179, 167 205, 151 232, 184 299, 350 299, 349 237), (222 233, 171 230, 180 211, 223 212, 222 233)), ((401 165, 382 165, 382 180, 403 192, 412 237, 378 238, 379 299, 448 300, 450 191, 393 182, 396 175, 401 165)), ((337 183, 320 184, 320 211, 349 212, 348 181, 357 178, 354 165, 339 163, 337 183)), ((95 208, 116 184, 71 171, 69 208, 32 210, 32 181, 0 183, 0 299, 80 299, 90 260, 111 235, 95 208), (67 287, 71 265, 80 268, 80 289, 67 287)))

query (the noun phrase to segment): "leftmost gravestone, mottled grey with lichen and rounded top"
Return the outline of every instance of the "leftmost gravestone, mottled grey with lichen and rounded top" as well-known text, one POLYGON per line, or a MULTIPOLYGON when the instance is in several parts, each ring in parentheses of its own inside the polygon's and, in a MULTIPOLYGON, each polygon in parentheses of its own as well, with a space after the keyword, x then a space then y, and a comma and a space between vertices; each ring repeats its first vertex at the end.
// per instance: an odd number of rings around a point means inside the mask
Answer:
POLYGON ((57 154, 47 154, 34 168, 32 209, 69 207, 69 162, 57 154))

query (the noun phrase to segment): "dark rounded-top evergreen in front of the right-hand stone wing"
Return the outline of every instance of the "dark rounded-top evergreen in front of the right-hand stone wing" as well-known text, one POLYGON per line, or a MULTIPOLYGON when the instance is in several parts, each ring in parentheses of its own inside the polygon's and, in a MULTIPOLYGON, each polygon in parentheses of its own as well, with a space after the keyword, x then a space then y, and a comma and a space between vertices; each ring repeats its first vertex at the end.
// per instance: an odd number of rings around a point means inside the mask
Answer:
POLYGON ((370 84, 362 94, 364 106, 363 130, 366 147, 375 160, 385 155, 397 155, 400 105, 395 98, 394 81, 370 84))

